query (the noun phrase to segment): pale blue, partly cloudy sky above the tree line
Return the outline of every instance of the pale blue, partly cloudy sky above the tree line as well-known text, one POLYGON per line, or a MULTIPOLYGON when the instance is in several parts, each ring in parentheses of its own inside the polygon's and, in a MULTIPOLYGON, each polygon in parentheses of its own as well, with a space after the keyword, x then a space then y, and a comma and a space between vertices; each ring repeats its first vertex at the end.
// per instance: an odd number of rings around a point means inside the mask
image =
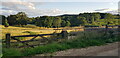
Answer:
POLYGON ((56 16, 63 14, 79 14, 84 12, 118 13, 119 0, 2 0, 0 5, 1 15, 25 12, 29 17, 56 16))

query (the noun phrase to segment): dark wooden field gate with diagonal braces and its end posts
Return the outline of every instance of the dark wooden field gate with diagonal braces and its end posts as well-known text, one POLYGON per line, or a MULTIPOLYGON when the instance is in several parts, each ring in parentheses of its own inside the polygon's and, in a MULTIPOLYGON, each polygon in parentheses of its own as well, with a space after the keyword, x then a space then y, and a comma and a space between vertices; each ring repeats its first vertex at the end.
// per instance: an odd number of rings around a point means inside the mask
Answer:
MULTIPOLYGON (((53 38, 52 40, 56 40, 56 39, 67 39, 69 36, 69 33, 67 31, 62 31, 61 33, 53 33, 53 34, 38 34, 38 35, 21 35, 21 36, 11 36, 10 33, 6 34, 6 39, 5 39, 5 45, 6 48, 10 48, 11 47, 11 43, 22 43, 24 45, 26 45, 27 47, 34 47, 34 46, 39 46, 39 45, 44 45, 45 43, 41 43, 41 44, 36 44, 36 45, 30 45, 27 42, 33 42, 33 41, 39 41, 39 42, 44 42, 44 41, 48 41, 50 42, 51 39, 48 39, 44 36, 48 36, 48 35, 55 35, 55 36, 61 36, 60 38, 53 38), (42 39, 35 39, 36 37, 40 36, 42 39), (25 41, 21 41, 20 39, 17 39, 18 37, 33 37, 30 40, 25 40, 25 41), (16 40, 17 42, 11 42, 11 40, 16 40)), ((70 34, 72 35, 72 34, 70 34)), ((21 47, 26 47, 26 46, 20 46, 21 47)))

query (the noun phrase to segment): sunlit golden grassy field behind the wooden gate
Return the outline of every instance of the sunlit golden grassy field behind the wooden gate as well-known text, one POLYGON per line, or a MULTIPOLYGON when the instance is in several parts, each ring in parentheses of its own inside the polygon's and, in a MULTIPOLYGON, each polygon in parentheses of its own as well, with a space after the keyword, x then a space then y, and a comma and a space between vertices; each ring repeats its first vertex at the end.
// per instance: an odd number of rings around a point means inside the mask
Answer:
MULTIPOLYGON (((0 25, 2 34, 0 36, 2 36, 2 39, 5 39, 5 34, 6 33, 10 33, 11 36, 18 36, 18 35, 33 35, 33 34, 49 34, 49 33, 60 33, 61 30, 54 30, 56 28, 44 28, 44 27, 14 27, 14 26, 9 26, 9 27, 4 27, 3 25, 0 25)), ((69 29, 70 27, 66 27, 66 29, 69 29)), ((71 27, 72 28, 72 27, 71 27)), ((73 28, 79 28, 79 27, 73 27, 73 28)), ((63 28, 59 28, 59 29, 63 29, 63 28)), ((75 30, 67 30, 68 32, 71 31, 75 31, 75 30)), ((83 29, 79 30, 79 31, 83 31, 83 29)), ((25 38, 25 39, 29 39, 25 38)))

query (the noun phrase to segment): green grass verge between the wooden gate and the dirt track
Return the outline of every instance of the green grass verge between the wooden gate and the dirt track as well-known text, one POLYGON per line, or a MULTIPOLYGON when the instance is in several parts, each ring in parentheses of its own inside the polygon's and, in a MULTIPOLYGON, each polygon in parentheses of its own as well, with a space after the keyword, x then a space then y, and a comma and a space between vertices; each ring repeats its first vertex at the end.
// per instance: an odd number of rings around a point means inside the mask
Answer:
POLYGON ((112 43, 120 41, 119 36, 114 34, 103 35, 103 32, 90 31, 80 32, 79 36, 71 40, 64 40, 60 43, 52 42, 47 45, 37 46, 35 48, 24 48, 24 49, 4 49, 4 56, 30 56, 43 53, 52 53, 56 51, 62 51, 71 48, 85 48, 89 46, 100 46, 106 43, 112 43), (113 35, 113 37, 111 37, 113 35))

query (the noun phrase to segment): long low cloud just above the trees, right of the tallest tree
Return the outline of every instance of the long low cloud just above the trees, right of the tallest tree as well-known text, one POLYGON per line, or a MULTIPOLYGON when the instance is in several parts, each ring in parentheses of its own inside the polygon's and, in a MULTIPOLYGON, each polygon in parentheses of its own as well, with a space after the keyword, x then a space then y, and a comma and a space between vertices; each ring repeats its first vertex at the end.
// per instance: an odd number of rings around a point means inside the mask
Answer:
POLYGON ((63 14, 64 11, 60 9, 36 9, 34 11, 27 12, 29 16, 41 16, 41 15, 47 15, 47 16, 55 16, 63 14))

